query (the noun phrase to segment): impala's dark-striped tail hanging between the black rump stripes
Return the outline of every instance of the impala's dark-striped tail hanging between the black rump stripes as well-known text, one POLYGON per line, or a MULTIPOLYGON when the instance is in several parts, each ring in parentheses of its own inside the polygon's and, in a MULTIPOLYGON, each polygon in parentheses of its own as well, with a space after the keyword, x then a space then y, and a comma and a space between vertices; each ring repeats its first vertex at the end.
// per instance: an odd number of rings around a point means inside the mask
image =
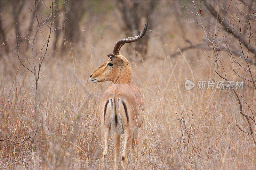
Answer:
POLYGON ((120 103, 121 103, 121 100, 119 98, 116 100, 116 97, 114 97, 114 101, 112 100, 112 98, 110 99, 110 105, 111 105, 111 111, 112 111, 110 115, 110 127, 117 134, 124 133, 122 116, 120 115, 120 103))

